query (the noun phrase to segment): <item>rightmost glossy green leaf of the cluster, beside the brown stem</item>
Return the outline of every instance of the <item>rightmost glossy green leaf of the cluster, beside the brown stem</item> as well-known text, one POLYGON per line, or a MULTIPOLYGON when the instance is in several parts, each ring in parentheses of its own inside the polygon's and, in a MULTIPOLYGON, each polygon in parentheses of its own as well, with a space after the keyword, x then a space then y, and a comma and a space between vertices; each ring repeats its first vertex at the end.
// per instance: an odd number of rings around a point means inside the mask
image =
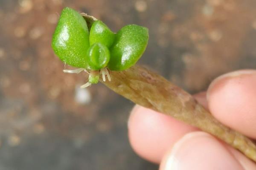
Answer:
POLYGON ((142 56, 148 44, 148 28, 128 25, 121 28, 110 49, 108 68, 122 71, 134 65, 142 56))

